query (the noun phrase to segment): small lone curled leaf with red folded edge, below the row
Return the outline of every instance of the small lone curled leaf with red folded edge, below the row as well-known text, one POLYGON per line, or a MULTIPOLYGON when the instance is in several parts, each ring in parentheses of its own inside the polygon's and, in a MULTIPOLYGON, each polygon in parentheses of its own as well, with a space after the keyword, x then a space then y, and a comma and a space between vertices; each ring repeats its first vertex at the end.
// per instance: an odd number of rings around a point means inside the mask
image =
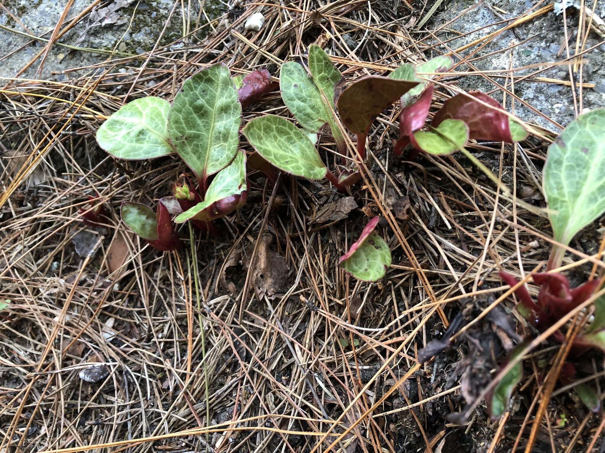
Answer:
POLYGON ((373 217, 365 225, 357 242, 340 257, 338 266, 358 280, 380 280, 391 265, 391 251, 387 243, 374 233, 379 220, 379 217, 373 217))

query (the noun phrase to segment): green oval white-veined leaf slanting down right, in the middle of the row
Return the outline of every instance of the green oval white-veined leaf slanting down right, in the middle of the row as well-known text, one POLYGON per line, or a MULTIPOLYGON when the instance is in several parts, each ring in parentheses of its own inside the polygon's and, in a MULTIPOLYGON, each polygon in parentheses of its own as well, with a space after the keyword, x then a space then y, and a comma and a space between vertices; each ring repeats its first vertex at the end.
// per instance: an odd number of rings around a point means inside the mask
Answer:
POLYGON ((241 130, 263 159, 280 170, 307 179, 322 179, 327 173, 307 132, 286 118, 264 115, 241 130))

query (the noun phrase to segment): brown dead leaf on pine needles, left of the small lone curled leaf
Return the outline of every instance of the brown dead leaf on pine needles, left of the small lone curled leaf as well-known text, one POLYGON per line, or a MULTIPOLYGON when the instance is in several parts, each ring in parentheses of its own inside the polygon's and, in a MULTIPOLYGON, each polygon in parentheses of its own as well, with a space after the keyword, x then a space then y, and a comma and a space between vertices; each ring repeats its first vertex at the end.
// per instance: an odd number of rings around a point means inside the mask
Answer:
MULTIPOLYGON (((252 269, 252 285, 258 294, 258 297, 265 295, 269 299, 274 299, 286 292, 290 277, 290 268, 286 263, 286 259, 279 253, 272 250, 270 247, 273 242, 273 236, 265 234, 261 237, 261 243, 258 247, 257 259, 252 269)), ((250 254, 252 247, 249 248, 249 253, 244 259, 244 268, 250 266, 250 254)))

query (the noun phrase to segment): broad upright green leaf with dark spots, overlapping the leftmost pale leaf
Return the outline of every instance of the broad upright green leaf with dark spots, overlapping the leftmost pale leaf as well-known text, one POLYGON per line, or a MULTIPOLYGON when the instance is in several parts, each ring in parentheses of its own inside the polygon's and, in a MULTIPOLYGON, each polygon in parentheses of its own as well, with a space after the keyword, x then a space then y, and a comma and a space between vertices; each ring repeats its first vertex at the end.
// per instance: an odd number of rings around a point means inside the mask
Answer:
POLYGON ((241 104, 229 68, 212 65, 185 80, 168 115, 177 153, 198 179, 226 167, 237 153, 241 104))

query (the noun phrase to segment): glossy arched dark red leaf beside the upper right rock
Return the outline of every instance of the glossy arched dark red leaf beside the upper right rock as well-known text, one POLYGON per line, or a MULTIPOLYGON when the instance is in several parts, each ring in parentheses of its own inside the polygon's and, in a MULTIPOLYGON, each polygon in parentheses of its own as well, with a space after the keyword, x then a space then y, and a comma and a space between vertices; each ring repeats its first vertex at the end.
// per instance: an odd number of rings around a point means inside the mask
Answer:
POLYGON ((476 140, 505 141, 512 143, 508 127, 508 116, 494 98, 480 91, 469 91, 468 94, 457 94, 446 100, 443 107, 433 118, 431 126, 437 127, 443 120, 453 118, 462 120, 469 127, 469 138, 476 140), (479 99, 494 108, 489 108, 479 99))

